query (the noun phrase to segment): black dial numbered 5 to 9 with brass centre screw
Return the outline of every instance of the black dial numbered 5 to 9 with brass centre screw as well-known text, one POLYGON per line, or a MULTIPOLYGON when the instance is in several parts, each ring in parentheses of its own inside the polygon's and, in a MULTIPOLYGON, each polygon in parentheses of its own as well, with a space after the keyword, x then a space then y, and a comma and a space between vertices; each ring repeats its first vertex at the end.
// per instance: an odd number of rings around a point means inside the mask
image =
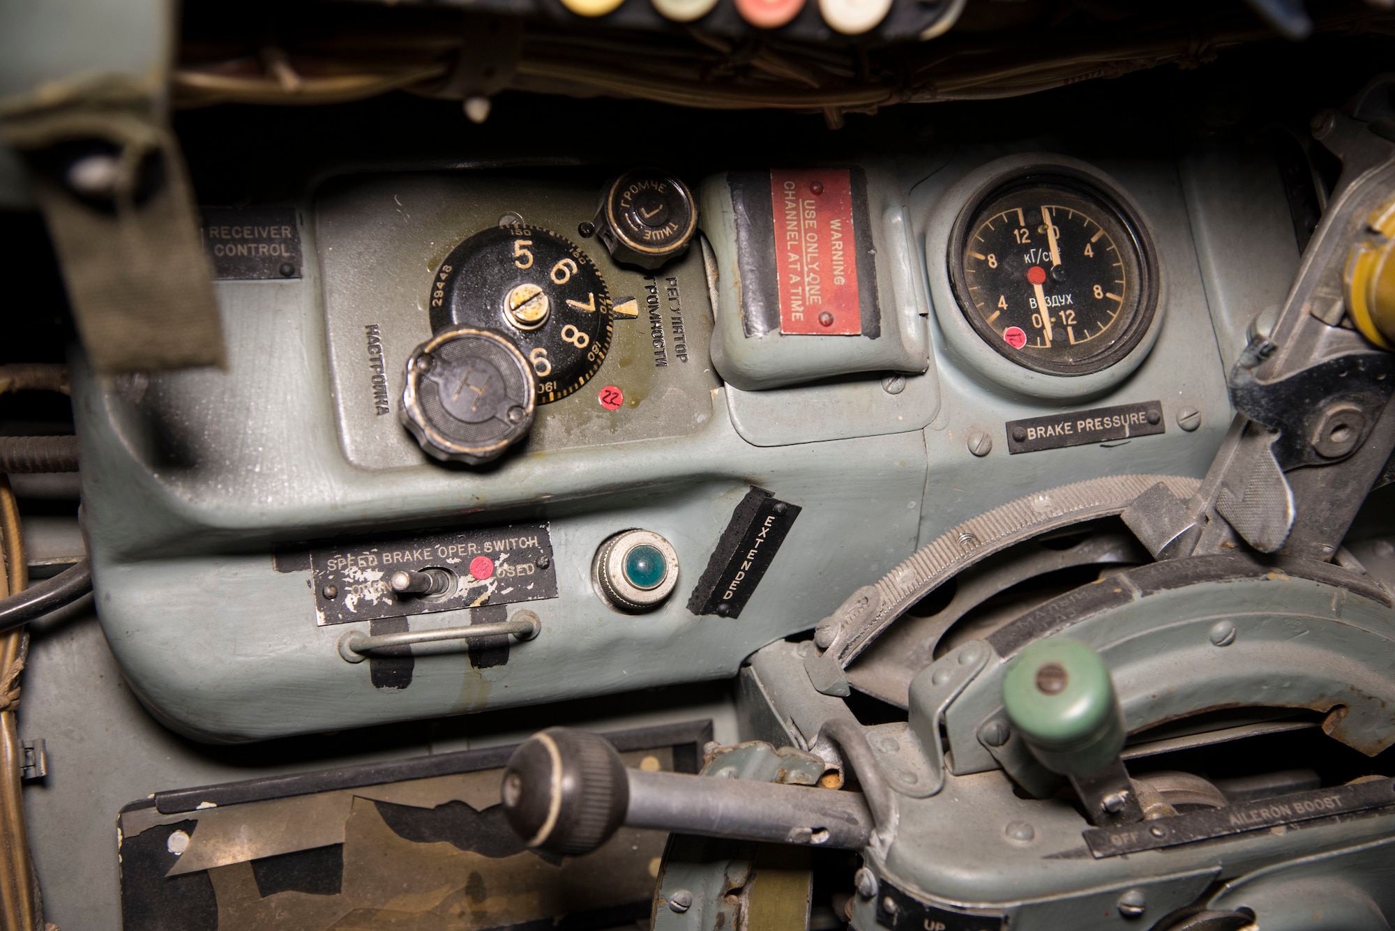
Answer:
POLYGON ((451 251, 431 288, 431 329, 506 336, 533 369, 538 404, 566 397, 601 367, 612 309, 590 256, 536 226, 476 233, 451 251))

